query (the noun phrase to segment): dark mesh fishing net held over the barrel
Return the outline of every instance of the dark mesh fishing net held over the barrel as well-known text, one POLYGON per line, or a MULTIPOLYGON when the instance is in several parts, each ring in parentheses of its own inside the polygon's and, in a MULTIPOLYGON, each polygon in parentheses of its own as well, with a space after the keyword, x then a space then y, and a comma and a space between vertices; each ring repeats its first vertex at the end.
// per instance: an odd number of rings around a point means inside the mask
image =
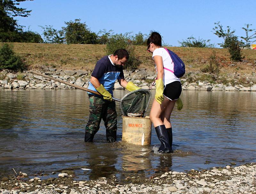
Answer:
POLYGON ((121 111, 124 116, 145 117, 151 93, 148 89, 138 89, 126 94, 120 100, 121 111))

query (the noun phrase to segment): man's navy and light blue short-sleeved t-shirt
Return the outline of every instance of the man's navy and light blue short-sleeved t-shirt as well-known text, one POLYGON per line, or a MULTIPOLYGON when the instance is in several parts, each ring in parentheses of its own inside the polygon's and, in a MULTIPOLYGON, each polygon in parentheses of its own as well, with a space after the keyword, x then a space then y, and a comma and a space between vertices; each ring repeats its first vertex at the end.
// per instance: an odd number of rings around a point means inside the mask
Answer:
MULTIPOLYGON (((116 79, 124 79, 123 66, 117 67, 113 65, 108 56, 102 57, 92 72, 92 76, 96 77, 110 94, 113 95, 113 88, 116 79)), ((92 83, 89 82, 88 89, 96 91, 92 83)), ((89 94, 92 94, 88 92, 89 94)))

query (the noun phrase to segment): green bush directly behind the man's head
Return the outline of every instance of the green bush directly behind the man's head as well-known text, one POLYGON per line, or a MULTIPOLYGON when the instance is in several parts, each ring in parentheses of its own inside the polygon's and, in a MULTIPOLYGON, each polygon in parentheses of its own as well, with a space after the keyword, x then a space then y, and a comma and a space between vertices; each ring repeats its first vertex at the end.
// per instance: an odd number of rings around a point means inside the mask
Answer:
POLYGON ((129 60, 127 61, 124 69, 137 69, 140 65, 138 57, 134 53, 134 46, 129 41, 127 35, 116 34, 108 39, 106 46, 106 54, 113 54, 118 49, 126 49, 129 53, 129 60))

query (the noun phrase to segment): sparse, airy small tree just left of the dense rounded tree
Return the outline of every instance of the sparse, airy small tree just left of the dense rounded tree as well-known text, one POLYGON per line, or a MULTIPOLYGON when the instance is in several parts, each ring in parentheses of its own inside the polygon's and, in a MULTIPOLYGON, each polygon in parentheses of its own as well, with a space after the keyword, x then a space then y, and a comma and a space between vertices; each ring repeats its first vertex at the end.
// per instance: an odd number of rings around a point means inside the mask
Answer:
POLYGON ((52 26, 40 26, 43 29, 44 43, 64 43, 65 37, 62 30, 56 30, 52 26))

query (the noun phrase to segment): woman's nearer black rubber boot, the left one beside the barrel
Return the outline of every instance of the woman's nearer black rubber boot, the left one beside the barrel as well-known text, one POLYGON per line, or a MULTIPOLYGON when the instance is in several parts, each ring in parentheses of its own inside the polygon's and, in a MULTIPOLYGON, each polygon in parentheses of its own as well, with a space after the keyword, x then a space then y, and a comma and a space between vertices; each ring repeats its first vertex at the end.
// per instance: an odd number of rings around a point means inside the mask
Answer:
POLYGON ((155 129, 156 129, 156 135, 161 142, 161 146, 159 147, 158 151, 164 152, 164 153, 172 152, 172 148, 169 144, 168 134, 167 134, 165 126, 159 125, 159 126, 155 127, 155 129))

